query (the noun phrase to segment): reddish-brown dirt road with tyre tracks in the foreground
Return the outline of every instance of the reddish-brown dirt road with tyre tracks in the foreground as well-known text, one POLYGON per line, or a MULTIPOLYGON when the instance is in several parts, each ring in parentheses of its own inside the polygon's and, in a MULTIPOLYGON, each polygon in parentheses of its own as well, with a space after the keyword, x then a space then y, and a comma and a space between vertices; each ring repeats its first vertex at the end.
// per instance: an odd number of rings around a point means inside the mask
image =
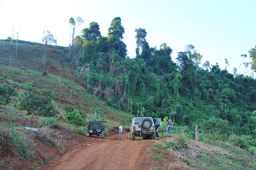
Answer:
POLYGON ((152 158, 148 149, 156 140, 128 139, 128 133, 123 133, 124 139, 118 134, 101 138, 92 138, 82 143, 60 158, 41 167, 40 170, 140 170, 148 169, 152 158), (129 141, 127 141, 129 140, 129 141), (111 143, 112 142, 112 143, 111 143), (119 142, 119 143, 118 143, 119 142), (91 144, 91 146, 87 146, 91 144))

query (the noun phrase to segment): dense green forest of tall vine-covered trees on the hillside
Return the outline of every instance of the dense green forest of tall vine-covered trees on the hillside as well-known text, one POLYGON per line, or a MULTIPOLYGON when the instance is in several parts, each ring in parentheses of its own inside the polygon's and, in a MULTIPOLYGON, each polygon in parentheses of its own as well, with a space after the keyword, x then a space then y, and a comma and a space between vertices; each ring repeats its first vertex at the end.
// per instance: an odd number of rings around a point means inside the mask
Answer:
MULTIPOLYGON (((216 116, 228 120, 238 133, 239 129, 251 133, 255 128, 251 112, 256 110, 256 80, 221 70, 218 63, 206 61, 200 67, 202 55, 193 45, 179 52, 175 63, 173 50, 166 43, 150 47, 146 30, 138 28, 135 32, 135 58, 127 57, 120 17, 111 21, 107 36, 101 35, 97 22, 91 22, 89 28, 81 30, 81 36, 74 38, 70 57, 89 93, 134 115, 137 106, 131 105, 131 99, 142 103, 147 110, 144 116, 173 116, 179 125, 216 116)), ((255 48, 249 51, 253 71, 255 48)), ((226 59, 225 64, 228 66, 226 59)))

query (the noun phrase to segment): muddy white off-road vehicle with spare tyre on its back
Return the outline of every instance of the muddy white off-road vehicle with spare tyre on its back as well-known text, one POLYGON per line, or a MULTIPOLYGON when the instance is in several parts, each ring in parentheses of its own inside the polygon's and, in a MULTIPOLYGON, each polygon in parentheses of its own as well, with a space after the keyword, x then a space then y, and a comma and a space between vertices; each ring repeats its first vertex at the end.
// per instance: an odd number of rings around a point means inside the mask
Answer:
POLYGON ((135 140, 136 136, 143 139, 156 139, 156 129, 151 117, 137 117, 130 124, 129 139, 135 140))

